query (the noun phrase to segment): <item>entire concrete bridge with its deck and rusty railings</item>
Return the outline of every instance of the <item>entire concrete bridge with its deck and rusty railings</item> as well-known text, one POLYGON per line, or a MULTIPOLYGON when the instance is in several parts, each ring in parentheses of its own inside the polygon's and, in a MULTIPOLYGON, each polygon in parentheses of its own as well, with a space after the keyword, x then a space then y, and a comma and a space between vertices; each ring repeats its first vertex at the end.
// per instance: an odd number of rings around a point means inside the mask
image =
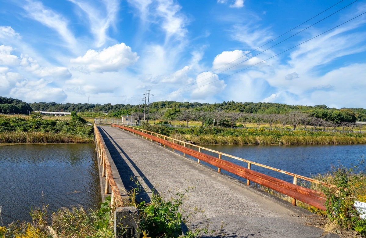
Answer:
POLYGON ((208 220, 209 230, 221 230, 225 237, 330 237, 322 229, 306 225, 316 217, 313 213, 294 206, 296 200, 302 200, 325 209, 322 194, 297 184, 297 179, 312 181, 311 178, 268 167, 294 177, 294 183, 280 181, 251 170, 254 162, 246 161, 247 168, 240 167, 224 160, 229 155, 221 152, 217 157, 207 155, 201 152, 205 149, 201 146, 121 124, 94 124, 94 131, 96 158, 103 176, 102 193, 111 195, 116 207, 126 199, 126 191, 136 187, 137 180, 143 187, 138 201, 149 202, 153 191, 169 200, 177 191, 188 189, 185 209, 197 207, 204 211, 190 217, 188 226, 199 226, 208 220), (247 183, 221 170, 242 176, 247 183), (292 204, 247 186, 250 181, 291 196, 292 204))

